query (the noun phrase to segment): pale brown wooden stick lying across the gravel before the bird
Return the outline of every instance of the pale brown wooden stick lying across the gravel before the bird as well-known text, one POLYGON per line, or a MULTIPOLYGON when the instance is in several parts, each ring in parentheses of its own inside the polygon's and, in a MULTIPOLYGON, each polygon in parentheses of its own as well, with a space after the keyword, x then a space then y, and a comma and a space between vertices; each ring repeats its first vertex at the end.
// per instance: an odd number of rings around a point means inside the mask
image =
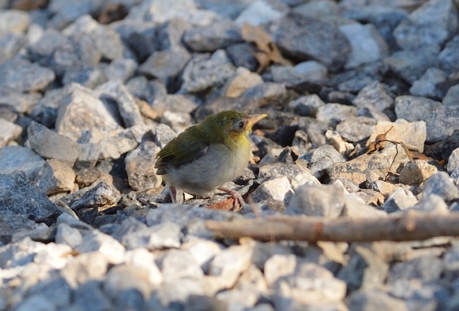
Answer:
POLYGON ((227 238, 255 240, 376 241, 425 240, 435 236, 459 236, 459 213, 408 212, 384 218, 268 217, 206 221, 205 225, 227 238))

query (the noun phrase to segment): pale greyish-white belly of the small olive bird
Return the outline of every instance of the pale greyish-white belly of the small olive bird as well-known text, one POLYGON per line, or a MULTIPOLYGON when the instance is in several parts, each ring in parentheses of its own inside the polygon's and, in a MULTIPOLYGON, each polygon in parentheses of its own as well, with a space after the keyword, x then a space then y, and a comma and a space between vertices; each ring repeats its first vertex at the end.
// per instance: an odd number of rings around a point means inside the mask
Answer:
POLYGON ((208 195, 224 183, 241 176, 249 157, 250 152, 245 148, 229 152, 225 145, 211 145, 200 159, 182 165, 179 169, 170 168, 164 176, 165 181, 187 193, 208 195))

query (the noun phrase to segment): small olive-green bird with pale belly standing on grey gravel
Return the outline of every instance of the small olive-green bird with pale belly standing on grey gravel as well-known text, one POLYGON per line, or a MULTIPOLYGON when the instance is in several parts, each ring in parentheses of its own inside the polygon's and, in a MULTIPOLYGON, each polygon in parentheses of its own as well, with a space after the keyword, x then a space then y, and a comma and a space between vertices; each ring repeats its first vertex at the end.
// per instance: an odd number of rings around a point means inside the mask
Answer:
POLYGON ((206 197, 215 189, 233 199, 233 210, 244 200, 222 185, 241 176, 251 157, 248 135, 252 126, 267 114, 248 115, 236 110, 221 111, 186 128, 156 155, 155 169, 169 186, 173 203, 177 189, 206 197))

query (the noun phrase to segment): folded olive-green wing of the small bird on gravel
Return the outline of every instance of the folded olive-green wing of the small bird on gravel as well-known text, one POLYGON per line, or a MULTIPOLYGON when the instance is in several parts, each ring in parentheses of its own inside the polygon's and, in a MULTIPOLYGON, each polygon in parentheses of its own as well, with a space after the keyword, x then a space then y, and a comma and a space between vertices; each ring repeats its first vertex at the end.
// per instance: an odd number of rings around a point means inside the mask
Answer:
POLYGON ((157 175, 167 173, 168 167, 178 168, 207 153, 209 142, 196 126, 186 129, 165 145, 156 156, 157 175))

